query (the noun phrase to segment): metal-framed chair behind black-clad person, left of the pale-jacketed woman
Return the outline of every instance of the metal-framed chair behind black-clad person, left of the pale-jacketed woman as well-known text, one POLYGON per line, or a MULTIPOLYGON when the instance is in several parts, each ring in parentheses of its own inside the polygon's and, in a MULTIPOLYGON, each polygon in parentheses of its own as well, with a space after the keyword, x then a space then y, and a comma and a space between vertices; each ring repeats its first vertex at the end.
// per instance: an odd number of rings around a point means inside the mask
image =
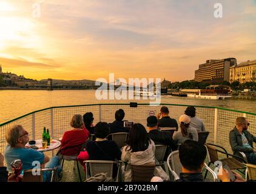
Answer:
POLYGON ((95 176, 98 173, 107 173, 107 177, 113 176, 113 166, 118 166, 118 174, 116 176, 116 182, 120 173, 120 162, 119 161, 108 161, 108 160, 87 160, 84 161, 86 164, 86 179, 90 176, 95 176))

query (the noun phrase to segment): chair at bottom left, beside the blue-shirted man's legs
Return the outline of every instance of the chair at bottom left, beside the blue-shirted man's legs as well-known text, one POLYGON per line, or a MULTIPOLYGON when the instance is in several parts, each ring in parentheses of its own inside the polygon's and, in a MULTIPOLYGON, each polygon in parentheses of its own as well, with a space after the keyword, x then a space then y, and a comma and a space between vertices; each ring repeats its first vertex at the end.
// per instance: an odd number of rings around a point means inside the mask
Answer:
POLYGON ((58 182, 58 167, 55 167, 54 169, 36 169, 36 173, 39 172, 39 175, 33 175, 33 169, 25 170, 24 175, 22 178, 22 182, 42 182, 42 173, 51 171, 52 176, 50 179, 50 182, 58 182))

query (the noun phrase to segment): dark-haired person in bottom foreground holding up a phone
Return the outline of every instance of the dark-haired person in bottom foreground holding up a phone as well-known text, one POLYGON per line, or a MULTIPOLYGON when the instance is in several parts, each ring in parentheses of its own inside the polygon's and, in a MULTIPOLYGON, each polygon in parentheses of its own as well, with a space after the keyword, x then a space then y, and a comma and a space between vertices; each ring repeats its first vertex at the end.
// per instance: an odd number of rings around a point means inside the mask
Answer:
MULTIPOLYGON (((179 147, 179 158, 181 162, 180 179, 177 182, 204 182, 207 181, 203 178, 202 169, 204 167, 204 160, 206 159, 206 147, 197 141, 186 140, 179 147)), ((235 172, 235 182, 243 182, 244 179, 235 172)), ((231 175, 226 169, 221 166, 218 171, 218 178, 222 182, 230 182, 231 175)), ((153 177, 152 182, 161 182, 159 177, 153 177)))

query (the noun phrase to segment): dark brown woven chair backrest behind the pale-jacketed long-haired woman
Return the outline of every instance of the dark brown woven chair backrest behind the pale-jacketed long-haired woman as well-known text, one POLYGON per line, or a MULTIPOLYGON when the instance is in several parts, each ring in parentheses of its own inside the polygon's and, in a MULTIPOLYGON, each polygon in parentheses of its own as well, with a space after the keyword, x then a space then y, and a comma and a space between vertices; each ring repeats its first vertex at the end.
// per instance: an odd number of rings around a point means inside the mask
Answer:
POLYGON ((132 169, 132 182, 150 182, 155 171, 155 164, 130 165, 132 169))

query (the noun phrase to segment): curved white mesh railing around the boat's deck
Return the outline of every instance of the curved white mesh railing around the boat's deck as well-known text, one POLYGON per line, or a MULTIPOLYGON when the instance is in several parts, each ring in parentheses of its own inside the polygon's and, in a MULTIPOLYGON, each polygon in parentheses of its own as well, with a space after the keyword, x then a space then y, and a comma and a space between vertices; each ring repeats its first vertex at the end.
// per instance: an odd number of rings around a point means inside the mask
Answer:
MULTIPOLYGON (((21 124, 27 132, 30 139, 41 139, 42 130, 48 128, 52 138, 58 139, 66 130, 70 130, 70 119, 74 114, 84 115, 86 112, 92 112, 95 118, 95 124, 99 121, 113 122, 115 112, 123 109, 126 113, 124 119, 134 122, 140 122, 146 127, 146 119, 150 113, 160 112, 161 106, 166 105, 170 111, 170 117, 178 121, 180 115, 189 105, 184 104, 160 104, 149 106, 149 104, 138 104, 138 107, 130 107, 130 104, 88 104, 71 105, 62 107, 50 107, 38 110, 27 115, 20 116, 8 122, 0 124, 0 152, 4 152, 6 130, 15 124, 21 124)), ((196 106, 197 116, 203 119, 206 130, 210 132, 207 142, 218 144, 231 152, 229 145, 229 131, 235 126, 235 119, 238 116, 244 116, 249 119, 249 131, 256 135, 256 114, 241 112, 237 110, 223 109, 220 107, 196 106)))

